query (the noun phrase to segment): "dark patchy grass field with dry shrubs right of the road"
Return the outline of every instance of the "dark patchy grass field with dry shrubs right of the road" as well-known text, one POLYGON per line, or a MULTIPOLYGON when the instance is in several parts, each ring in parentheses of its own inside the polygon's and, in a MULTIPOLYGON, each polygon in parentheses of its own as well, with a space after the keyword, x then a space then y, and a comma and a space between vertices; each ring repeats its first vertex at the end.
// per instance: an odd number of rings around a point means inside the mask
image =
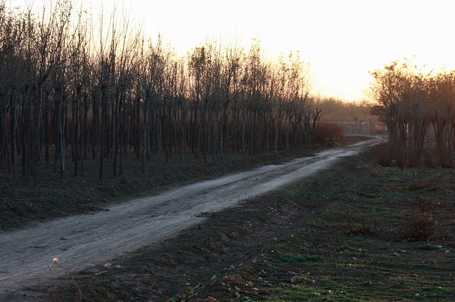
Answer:
POLYGON ((275 195, 311 219, 174 301, 455 301, 454 190, 452 169, 347 159, 275 195))

